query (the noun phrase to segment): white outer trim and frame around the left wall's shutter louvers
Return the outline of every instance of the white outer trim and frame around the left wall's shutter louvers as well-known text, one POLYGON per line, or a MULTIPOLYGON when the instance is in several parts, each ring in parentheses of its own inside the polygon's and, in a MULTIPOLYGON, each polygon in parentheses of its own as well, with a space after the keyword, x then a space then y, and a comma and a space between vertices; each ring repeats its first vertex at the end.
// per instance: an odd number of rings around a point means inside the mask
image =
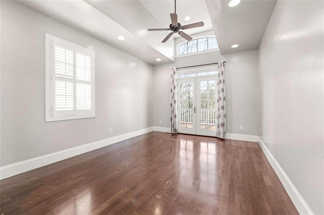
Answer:
MULTIPOLYGON (((57 79, 57 78, 56 78, 57 79)), ((58 80, 60 80, 59 78, 58 80)), ((63 78, 66 79, 66 78, 63 78)), ((55 37, 48 33, 45 33, 45 122, 62 121, 62 120, 74 120, 74 119, 85 119, 96 117, 96 93, 95 93, 95 51, 88 49, 86 47, 77 45, 75 43, 66 41, 64 39, 55 37), (74 61, 75 61, 75 51, 80 50, 81 53, 86 53, 91 57, 91 109, 89 110, 76 110, 75 96, 76 96, 76 83, 84 83, 83 80, 76 81, 76 71, 75 64, 73 64, 73 79, 71 80, 74 85, 74 105, 73 114, 66 116, 54 116, 54 49, 53 44, 64 44, 67 48, 72 48, 74 50, 74 61), (85 114, 77 114, 85 113, 85 114)), ((63 112, 62 112, 63 113, 63 112)))

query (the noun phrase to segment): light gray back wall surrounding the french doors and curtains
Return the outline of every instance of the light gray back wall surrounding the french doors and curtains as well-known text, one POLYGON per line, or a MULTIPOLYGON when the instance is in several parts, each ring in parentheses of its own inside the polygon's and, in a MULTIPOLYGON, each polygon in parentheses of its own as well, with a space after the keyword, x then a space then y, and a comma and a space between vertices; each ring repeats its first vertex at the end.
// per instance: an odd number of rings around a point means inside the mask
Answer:
POLYGON ((153 125, 170 127, 171 68, 226 60, 226 132, 257 135, 258 50, 221 56, 219 51, 177 58, 175 64, 153 67, 153 125), (159 124, 159 121, 162 121, 159 124), (244 130, 239 130, 243 126, 244 130))

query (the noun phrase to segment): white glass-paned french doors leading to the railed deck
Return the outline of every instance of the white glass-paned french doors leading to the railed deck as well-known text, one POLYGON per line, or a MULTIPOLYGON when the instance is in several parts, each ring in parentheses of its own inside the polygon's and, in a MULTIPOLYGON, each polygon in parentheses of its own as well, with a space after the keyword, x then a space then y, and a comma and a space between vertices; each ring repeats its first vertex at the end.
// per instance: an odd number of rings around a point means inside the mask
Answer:
POLYGON ((178 80, 178 132, 216 136, 216 76, 178 80))

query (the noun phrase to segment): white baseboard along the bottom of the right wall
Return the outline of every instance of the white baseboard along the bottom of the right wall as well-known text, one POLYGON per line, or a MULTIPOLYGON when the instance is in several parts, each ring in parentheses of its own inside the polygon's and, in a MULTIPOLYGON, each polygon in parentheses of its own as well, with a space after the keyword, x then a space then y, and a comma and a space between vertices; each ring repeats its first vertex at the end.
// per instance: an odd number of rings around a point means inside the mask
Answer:
POLYGON ((274 158, 267 146, 262 142, 260 137, 258 138, 258 142, 263 153, 265 154, 270 165, 272 166, 274 172, 277 174, 281 184, 285 187, 289 197, 295 204, 295 207, 297 208, 298 212, 300 214, 314 214, 314 212, 311 210, 305 199, 298 192, 293 182, 289 179, 285 171, 280 167, 279 163, 274 158))

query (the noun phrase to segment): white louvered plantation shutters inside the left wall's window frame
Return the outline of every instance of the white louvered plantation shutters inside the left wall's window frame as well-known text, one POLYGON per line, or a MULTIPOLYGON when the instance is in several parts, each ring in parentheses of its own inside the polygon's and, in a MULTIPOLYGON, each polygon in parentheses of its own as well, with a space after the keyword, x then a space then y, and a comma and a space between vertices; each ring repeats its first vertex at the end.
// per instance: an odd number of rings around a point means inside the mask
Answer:
POLYGON ((93 105, 93 51, 53 41, 53 116, 89 115, 93 105))

